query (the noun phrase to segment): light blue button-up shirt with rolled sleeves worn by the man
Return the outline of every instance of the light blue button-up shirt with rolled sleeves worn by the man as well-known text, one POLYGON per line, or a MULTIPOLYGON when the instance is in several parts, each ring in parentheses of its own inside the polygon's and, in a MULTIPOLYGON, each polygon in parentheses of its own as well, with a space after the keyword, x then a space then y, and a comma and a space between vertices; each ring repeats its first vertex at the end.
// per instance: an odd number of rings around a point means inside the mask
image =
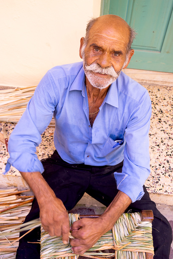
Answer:
POLYGON ((132 202, 141 199, 150 174, 151 100, 144 87, 121 72, 91 127, 82 62, 50 69, 10 136, 6 172, 10 165, 21 172, 44 171, 35 152, 52 115, 54 144, 64 161, 103 166, 124 159, 122 173, 114 173, 117 189, 132 202), (114 147, 115 140, 124 142, 114 147))

